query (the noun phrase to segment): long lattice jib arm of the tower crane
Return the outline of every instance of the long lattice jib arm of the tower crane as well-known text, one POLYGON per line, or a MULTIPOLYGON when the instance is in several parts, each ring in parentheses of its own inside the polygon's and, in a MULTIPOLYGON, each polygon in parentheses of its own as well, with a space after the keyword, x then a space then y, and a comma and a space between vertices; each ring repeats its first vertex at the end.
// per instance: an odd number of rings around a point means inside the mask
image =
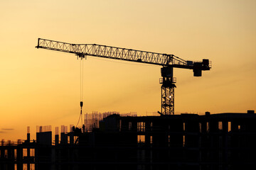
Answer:
POLYGON ((132 50, 122 47, 112 47, 97 44, 71 44, 41 38, 38 38, 38 45, 36 47, 60 52, 74 53, 76 55, 105 57, 114 60, 142 62, 146 64, 156 64, 161 66, 172 65, 173 67, 191 69, 191 66, 187 64, 186 60, 182 60, 175 55, 166 55, 157 52, 146 52, 142 50, 132 50))

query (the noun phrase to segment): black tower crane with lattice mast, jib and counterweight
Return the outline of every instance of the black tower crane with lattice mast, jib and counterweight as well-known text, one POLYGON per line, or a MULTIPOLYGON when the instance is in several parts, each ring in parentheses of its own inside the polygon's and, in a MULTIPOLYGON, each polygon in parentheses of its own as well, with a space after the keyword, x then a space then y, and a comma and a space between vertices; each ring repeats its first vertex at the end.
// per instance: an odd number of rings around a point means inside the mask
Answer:
POLYGON ((38 38, 36 48, 73 53, 81 60, 86 56, 91 56, 161 66, 161 78, 159 81, 161 84, 161 113, 159 113, 161 115, 174 114, 174 88, 176 88, 176 77, 173 75, 174 68, 192 69, 194 77, 201 77, 202 71, 210 70, 211 68, 211 63, 208 59, 203 59, 201 62, 193 62, 183 60, 175 55, 107 45, 71 44, 38 38))

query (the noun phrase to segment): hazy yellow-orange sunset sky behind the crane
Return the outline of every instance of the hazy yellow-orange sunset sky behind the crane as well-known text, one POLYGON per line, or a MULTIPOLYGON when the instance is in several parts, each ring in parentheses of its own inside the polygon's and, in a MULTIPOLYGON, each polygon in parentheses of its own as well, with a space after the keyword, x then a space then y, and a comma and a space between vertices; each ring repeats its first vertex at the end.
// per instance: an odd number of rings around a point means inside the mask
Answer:
MULTIPOLYGON (((255 0, 3 0, 0 19, 0 140, 78 122, 80 61, 37 38, 207 58, 203 77, 174 69, 176 113, 256 110, 255 0)), ((88 57, 83 113, 161 111, 160 69, 88 57)))

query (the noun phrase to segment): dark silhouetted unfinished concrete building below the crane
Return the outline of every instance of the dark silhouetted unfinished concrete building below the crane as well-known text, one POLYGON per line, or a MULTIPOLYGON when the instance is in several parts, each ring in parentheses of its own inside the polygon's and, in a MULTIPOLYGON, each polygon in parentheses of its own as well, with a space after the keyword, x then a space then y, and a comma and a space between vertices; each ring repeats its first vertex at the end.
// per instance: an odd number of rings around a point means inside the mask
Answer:
POLYGON ((2 142, 0 169, 250 169, 256 165, 255 122, 255 111, 112 114, 92 132, 64 130, 60 141, 46 128, 36 140, 28 132, 25 142, 2 142))

